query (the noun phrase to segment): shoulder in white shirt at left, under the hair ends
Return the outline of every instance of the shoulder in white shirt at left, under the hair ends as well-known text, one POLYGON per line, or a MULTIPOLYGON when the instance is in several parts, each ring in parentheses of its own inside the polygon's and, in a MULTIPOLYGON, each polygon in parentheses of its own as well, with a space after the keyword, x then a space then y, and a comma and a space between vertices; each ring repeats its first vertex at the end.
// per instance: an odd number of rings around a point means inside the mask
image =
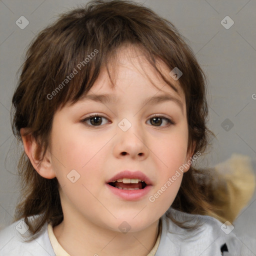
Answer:
POLYGON ((49 241, 47 224, 39 231, 38 236, 31 241, 25 241, 27 225, 18 220, 0 230, 0 255, 5 256, 55 256, 49 241))

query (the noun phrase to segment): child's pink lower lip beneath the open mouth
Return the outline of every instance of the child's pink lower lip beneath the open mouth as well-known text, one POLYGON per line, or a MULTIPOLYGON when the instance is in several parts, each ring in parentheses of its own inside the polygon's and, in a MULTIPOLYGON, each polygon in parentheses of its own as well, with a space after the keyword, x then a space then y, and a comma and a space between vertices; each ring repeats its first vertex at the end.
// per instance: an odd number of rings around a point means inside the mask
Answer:
POLYGON ((144 197, 151 189, 151 185, 146 185, 143 189, 134 189, 134 190, 126 190, 116 188, 114 186, 106 183, 106 186, 117 196, 121 197, 124 200, 135 201, 144 197))

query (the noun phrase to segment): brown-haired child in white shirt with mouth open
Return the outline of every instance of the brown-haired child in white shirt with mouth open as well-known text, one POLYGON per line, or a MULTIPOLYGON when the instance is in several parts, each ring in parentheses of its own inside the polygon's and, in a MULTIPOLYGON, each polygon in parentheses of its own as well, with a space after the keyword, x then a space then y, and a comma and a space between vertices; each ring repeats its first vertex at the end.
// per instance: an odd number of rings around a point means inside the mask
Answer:
POLYGON ((192 162, 204 75, 175 27, 94 1, 42 30, 12 103, 22 200, 1 255, 255 255, 212 212, 192 162))

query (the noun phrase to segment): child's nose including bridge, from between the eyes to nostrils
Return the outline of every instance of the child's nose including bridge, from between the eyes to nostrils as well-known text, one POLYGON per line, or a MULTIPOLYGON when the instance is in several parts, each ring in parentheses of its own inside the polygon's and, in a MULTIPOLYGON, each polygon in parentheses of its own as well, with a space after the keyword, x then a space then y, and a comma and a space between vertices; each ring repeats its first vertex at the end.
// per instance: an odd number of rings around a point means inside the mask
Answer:
POLYGON ((146 157, 148 148, 142 122, 134 116, 128 118, 125 117, 118 123, 115 154, 146 157))

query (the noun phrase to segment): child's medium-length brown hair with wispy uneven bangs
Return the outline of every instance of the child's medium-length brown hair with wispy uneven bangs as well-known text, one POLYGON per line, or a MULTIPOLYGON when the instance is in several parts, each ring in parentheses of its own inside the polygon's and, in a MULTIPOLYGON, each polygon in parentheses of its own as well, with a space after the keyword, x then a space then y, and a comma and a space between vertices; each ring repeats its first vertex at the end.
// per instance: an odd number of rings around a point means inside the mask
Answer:
MULTIPOLYGON (((209 134, 205 126, 205 77, 192 51, 176 28, 152 10, 130 1, 113 0, 92 1, 85 7, 62 14, 36 36, 26 52, 12 98, 12 130, 20 140, 20 128, 28 128, 27 134, 30 133, 38 143, 36 158, 44 156, 49 145, 54 112, 67 102, 75 103, 86 93, 102 66, 107 68, 116 49, 125 43, 139 46, 169 85, 168 78, 156 66, 157 59, 163 61, 169 70, 178 67, 183 72, 178 81, 185 93, 188 147, 194 141, 194 152, 204 151, 209 134), (98 54, 86 64, 84 61, 84 67, 56 92, 56 87, 77 64, 96 50, 98 54), (49 96, 54 90, 56 95, 49 96)), ((45 222, 51 221, 53 226, 59 224, 63 213, 57 179, 41 177, 25 152, 20 157, 18 171, 22 181, 22 200, 16 207, 15 220, 24 218, 32 234, 36 234, 45 222), (32 215, 38 215, 33 223, 28 219, 32 215)), ((188 213, 211 212, 196 178, 198 173, 199 170, 192 166, 184 173, 173 208, 188 213)))

